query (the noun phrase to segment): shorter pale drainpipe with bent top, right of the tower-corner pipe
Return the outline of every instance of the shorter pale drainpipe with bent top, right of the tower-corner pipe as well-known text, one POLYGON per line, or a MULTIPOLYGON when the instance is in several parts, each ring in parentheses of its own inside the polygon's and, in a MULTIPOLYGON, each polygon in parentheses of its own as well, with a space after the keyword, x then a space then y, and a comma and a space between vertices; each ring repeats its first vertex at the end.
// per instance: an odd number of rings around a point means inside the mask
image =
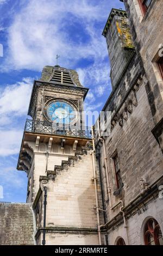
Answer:
POLYGON ((103 148, 104 148, 106 183, 107 183, 107 190, 108 190, 108 194, 109 194, 109 205, 110 205, 110 208, 112 208, 112 205, 111 205, 111 187, 110 187, 110 182, 109 182, 108 165, 107 165, 108 157, 106 157, 106 145, 105 145, 105 140, 101 137, 100 128, 99 128, 99 120, 97 121, 97 124, 98 124, 98 136, 99 136, 99 139, 102 141, 103 148))

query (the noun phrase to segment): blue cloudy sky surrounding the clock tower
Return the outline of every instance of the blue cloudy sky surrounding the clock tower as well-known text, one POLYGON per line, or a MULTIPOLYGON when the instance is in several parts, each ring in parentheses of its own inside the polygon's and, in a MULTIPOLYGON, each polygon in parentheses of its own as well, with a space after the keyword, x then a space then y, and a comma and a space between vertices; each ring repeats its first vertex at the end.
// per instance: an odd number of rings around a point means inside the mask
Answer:
POLYGON ((0 0, 1 202, 26 202, 27 174, 16 166, 33 81, 43 66, 54 66, 59 54, 60 66, 78 71, 90 88, 85 110, 100 111, 108 99, 102 32, 111 8, 124 6, 119 0, 0 0))

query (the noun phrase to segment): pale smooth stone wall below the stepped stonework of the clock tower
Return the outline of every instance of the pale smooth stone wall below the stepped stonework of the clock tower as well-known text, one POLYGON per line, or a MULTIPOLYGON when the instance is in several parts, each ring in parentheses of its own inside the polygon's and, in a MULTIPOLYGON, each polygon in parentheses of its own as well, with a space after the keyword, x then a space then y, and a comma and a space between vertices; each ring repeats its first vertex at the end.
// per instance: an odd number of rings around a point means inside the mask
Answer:
MULTIPOLYGON (((55 180, 48 180, 47 245, 98 245, 95 187, 92 177, 90 151, 85 151, 85 154, 68 168, 57 170, 55 180)), ((99 176, 98 199, 99 208, 102 208, 99 176)), ((103 224, 103 212, 100 216, 103 224)), ((39 244, 42 240, 41 227, 37 234, 39 244)))

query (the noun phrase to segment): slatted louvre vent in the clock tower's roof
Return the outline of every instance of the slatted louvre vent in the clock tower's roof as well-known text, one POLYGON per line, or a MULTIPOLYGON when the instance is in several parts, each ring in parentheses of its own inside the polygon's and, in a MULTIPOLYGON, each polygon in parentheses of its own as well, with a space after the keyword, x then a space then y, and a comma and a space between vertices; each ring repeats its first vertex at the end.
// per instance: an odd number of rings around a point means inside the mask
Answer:
POLYGON ((69 72, 60 71, 60 70, 55 70, 54 76, 51 79, 51 82, 61 83, 61 84, 71 84, 71 85, 74 84, 71 80, 69 72))

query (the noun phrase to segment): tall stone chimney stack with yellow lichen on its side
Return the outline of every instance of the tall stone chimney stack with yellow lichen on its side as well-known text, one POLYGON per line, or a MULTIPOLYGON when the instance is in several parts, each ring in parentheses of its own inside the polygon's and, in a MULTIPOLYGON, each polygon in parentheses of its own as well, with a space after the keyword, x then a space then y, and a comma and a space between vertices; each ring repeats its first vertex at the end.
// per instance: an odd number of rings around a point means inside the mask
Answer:
POLYGON ((111 10, 103 35, 108 46, 111 66, 110 78, 114 89, 134 51, 126 11, 111 10))

